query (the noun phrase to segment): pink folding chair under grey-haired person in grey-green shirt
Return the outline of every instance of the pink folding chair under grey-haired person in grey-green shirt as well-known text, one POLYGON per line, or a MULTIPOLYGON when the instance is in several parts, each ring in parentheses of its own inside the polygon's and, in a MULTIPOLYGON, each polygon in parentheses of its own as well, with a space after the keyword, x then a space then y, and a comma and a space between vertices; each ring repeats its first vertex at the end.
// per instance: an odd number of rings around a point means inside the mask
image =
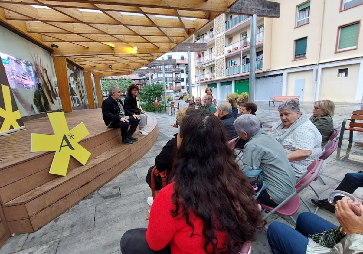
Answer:
MULTIPOLYGON (((287 197, 281 204, 273 208, 272 206, 261 204, 264 211, 269 211, 264 217, 266 220, 272 214, 276 213, 278 216, 289 216, 296 225, 295 219, 292 217, 300 206, 299 192, 305 189, 312 181, 316 180, 319 176, 319 171, 323 165, 324 160, 314 160, 309 167, 307 167, 307 174, 295 185, 295 191, 287 197)), ((310 208, 307 206, 310 211, 310 208)), ((310 211, 311 212, 311 211, 310 211)))

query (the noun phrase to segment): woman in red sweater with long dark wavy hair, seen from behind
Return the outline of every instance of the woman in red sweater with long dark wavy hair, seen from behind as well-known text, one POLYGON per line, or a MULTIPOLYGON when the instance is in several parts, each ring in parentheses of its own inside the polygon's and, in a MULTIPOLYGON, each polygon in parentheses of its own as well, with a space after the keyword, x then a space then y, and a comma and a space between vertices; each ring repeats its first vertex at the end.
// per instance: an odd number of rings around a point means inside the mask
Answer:
POLYGON ((227 146, 223 124, 210 112, 195 110, 184 117, 177 143, 171 183, 155 197, 147 229, 122 236, 121 252, 238 253, 264 221, 227 146))

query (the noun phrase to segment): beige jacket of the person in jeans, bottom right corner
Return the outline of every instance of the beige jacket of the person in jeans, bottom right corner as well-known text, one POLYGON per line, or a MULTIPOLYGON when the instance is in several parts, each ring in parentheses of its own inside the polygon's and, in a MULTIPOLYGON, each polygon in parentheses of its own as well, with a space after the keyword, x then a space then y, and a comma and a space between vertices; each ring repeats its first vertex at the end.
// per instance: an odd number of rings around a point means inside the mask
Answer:
POLYGON ((363 235, 350 234, 329 249, 313 240, 307 244, 306 254, 360 254, 363 253, 363 235))

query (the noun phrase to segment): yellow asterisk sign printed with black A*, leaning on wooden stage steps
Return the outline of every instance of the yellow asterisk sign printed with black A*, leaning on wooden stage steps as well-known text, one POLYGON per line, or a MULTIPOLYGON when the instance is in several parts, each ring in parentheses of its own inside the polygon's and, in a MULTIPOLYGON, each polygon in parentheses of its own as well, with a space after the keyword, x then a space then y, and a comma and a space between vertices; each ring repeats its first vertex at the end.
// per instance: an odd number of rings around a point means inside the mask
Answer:
POLYGON ((65 176, 70 156, 85 165, 91 153, 78 144, 89 131, 84 123, 69 130, 64 112, 48 113, 55 135, 32 133, 32 152, 56 151, 49 173, 65 176))

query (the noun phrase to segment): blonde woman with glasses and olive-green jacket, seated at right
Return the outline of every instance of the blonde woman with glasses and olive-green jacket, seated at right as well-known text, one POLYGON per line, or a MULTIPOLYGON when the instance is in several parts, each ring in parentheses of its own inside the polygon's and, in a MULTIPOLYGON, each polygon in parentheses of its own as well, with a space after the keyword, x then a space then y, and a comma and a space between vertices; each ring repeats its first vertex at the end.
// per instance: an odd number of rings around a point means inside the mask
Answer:
POLYGON ((334 116, 334 107, 334 102, 329 100, 314 103, 313 115, 310 117, 310 121, 313 122, 321 134, 321 147, 328 143, 329 137, 334 130, 332 118, 334 116))

